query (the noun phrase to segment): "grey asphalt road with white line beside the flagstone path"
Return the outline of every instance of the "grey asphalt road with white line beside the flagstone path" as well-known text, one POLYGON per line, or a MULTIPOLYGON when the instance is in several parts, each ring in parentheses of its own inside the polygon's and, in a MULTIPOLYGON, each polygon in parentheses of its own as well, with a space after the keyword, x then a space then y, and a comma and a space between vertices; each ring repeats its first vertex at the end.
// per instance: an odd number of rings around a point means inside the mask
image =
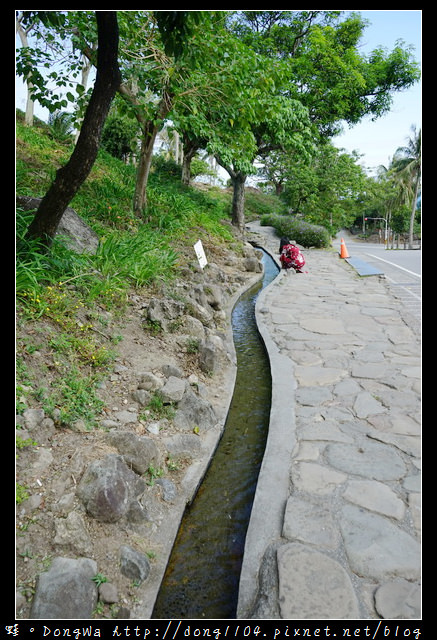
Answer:
POLYGON ((386 249, 383 244, 359 242, 345 232, 339 234, 335 241, 339 251, 341 237, 344 238, 351 257, 359 257, 384 273, 393 292, 402 300, 406 319, 415 328, 420 329, 422 311, 421 249, 386 249))

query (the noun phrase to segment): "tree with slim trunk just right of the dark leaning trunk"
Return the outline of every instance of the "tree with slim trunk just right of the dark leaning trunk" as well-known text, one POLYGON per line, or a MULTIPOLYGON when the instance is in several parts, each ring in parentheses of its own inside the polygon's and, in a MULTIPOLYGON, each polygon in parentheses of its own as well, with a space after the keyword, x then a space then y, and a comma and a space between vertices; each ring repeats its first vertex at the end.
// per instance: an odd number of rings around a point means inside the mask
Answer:
POLYGON ((131 44, 123 47, 124 81, 119 91, 141 128, 133 207, 135 215, 142 217, 158 132, 178 103, 190 95, 192 101, 198 100, 208 88, 211 91, 205 74, 197 69, 197 43, 206 40, 214 20, 210 13, 216 12, 132 13, 121 15, 123 41, 131 44))

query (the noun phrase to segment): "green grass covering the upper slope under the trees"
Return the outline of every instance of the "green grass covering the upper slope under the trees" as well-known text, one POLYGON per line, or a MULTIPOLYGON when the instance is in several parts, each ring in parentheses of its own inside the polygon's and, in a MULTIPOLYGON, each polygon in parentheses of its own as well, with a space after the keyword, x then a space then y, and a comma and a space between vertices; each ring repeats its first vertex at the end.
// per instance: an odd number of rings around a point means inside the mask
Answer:
MULTIPOLYGON (((73 146, 57 141, 47 125, 30 128, 22 120, 18 114, 17 193, 42 197, 73 146)), ((95 255, 73 252, 60 237, 45 252, 38 241, 26 239, 34 212, 17 211, 19 413, 38 402, 57 423, 73 426, 81 420, 93 428, 101 411, 97 384, 111 370, 111 347, 119 339, 108 335, 104 315, 122 317, 132 289, 171 289, 179 268, 194 261, 192 245, 199 238, 204 244, 237 246, 229 225, 229 191, 186 187, 167 165, 161 158, 154 161, 145 220, 139 220, 132 213, 135 167, 99 152, 70 203, 99 237, 95 255), (29 335, 36 334, 32 343, 29 335), (30 366, 37 350, 50 361, 50 376, 30 366)), ((247 202, 249 218, 269 206, 277 210, 276 201, 269 205, 268 196, 254 190, 247 202)), ((163 411, 156 405, 150 409, 163 411)))

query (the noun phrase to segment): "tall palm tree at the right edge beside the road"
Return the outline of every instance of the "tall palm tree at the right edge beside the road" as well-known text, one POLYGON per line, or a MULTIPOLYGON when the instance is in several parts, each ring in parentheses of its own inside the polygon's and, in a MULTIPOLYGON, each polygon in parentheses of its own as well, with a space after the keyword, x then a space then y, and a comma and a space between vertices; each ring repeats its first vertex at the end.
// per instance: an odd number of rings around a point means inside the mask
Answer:
POLYGON ((420 178, 422 175, 422 130, 416 132, 416 127, 411 127, 413 136, 408 139, 406 147, 399 147, 393 157, 392 169, 394 178, 401 188, 401 196, 404 202, 409 202, 411 210, 410 231, 408 248, 413 248, 413 228, 419 195, 420 178))

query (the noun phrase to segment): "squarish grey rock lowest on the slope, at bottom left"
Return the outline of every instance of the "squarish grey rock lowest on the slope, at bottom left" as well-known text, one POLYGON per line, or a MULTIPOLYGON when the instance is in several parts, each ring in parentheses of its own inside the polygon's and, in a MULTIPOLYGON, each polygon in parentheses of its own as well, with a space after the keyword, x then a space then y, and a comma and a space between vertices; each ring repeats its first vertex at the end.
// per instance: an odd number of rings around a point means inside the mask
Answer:
POLYGON ((37 578, 30 613, 37 619, 89 619, 97 605, 92 581, 97 563, 90 558, 55 558, 50 569, 37 578))

